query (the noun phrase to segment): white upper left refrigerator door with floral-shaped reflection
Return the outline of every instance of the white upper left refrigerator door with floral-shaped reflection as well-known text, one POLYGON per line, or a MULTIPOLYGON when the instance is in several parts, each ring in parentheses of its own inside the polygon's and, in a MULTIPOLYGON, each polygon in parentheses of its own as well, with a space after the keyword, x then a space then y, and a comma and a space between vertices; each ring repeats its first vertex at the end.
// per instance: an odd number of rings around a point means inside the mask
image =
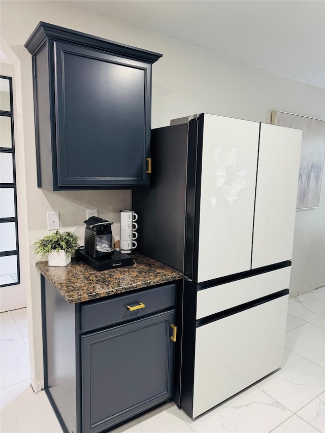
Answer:
POLYGON ((258 132, 204 115, 198 282, 250 269, 258 132))

